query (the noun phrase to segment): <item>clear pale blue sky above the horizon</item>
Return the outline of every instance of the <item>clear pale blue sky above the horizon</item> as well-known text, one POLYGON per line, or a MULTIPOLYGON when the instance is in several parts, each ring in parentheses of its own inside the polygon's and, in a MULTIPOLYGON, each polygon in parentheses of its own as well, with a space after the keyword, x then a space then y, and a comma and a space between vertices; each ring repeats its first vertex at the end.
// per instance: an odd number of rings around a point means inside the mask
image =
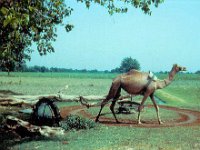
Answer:
POLYGON ((143 71, 168 71, 174 63, 200 70, 200 1, 165 0, 152 15, 130 8, 110 16, 107 10, 69 0, 74 8, 66 19, 75 28, 58 27, 55 53, 32 54, 29 66, 111 70, 124 57, 137 59, 143 71))

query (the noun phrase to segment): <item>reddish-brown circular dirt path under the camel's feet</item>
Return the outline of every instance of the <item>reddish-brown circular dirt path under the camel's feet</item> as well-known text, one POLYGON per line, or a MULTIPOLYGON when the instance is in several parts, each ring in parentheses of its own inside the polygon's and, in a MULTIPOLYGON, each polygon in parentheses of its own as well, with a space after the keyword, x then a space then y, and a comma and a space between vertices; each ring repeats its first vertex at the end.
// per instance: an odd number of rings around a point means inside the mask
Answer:
MULTIPOLYGON (((150 106, 151 107, 151 106, 150 106)), ((163 125, 159 125, 157 121, 145 120, 141 125, 137 124, 136 120, 131 119, 120 119, 120 123, 116 123, 113 118, 108 118, 101 116, 99 123, 108 125, 108 126, 130 126, 130 127, 140 127, 140 128, 161 128, 161 127, 177 127, 177 126, 195 126, 200 125, 200 112, 181 109, 177 107, 170 106, 160 106, 161 109, 166 109, 170 111, 175 111, 179 117, 173 121, 166 121, 163 125)), ((90 113, 85 111, 84 106, 70 106, 64 107, 61 109, 61 116, 65 117, 69 114, 82 114, 84 117, 95 119, 95 116, 92 116, 90 113)))

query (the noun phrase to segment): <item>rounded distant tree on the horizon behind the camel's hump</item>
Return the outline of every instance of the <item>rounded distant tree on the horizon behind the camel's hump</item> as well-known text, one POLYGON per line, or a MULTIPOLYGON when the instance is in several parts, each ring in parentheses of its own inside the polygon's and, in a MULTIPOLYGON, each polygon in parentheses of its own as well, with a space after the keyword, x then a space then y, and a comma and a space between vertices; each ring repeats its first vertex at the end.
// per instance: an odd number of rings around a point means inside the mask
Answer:
POLYGON ((136 59, 126 57, 122 60, 120 67, 111 70, 111 72, 128 72, 131 69, 140 70, 140 64, 136 59))

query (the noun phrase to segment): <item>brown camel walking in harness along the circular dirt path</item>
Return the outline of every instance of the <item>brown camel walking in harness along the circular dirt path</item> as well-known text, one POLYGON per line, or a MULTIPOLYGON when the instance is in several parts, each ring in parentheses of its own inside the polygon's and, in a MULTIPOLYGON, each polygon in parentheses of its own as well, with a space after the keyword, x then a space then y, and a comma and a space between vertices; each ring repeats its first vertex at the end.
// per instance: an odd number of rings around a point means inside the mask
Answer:
POLYGON ((124 89, 128 94, 131 94, 131 95, 143 95, 142 101, 140 105, 138 106, 138 120, 137 120, 138 124, 141 124, 140 113, 148 97, 151 98, 151 101, 153 102, 153 105, 156 109, 157 119, 158 119, 159 124, 163 124, 159 115, 159 107, 156 104, 156 101, 154 99, 154 93, 157 89, 162 89, 168 86, 173 81, 176 73, 178 73, 179 71, 186 71, 186 68, 178 66, 177 64, 174 64, 171 71, 169 72, 169 76, 164 80, 157 79, 150 72, 140 72, 135 69, 132 69, 127 73, 117 76, 112 82, 108 95, 101 102, 101 108, 95 121, 98 122, 103 107, 110 100, 112 100, 112 103, 110 105, 110 110, 116 122, 119 123, 114 112, 114 107, 115 107, 116 101, 120 97, 121 89, 124 89))

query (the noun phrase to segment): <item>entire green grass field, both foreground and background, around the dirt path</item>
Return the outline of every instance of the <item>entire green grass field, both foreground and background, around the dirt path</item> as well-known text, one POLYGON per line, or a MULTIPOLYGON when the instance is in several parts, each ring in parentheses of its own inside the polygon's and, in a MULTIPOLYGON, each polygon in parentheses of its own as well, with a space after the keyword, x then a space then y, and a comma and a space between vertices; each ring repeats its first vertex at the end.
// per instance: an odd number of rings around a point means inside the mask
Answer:
MULTIPOLYGON (((65 85, 69 88, 65 94, 70 95, 106 95, 112 78, 116 74, 76 74, 76 73, 0 73, 0 90, 11 90, 22 94, 56 93, 65 85)), ((163 79, 167 75, 158 75, 163 79)), ((156 95, 166 101, 165 105, 200 111, 200 75, 178 74, 175 81, 156 95)), ((148 100, 147 103, 151 104, 148 100)), ((79 105, 69 103, 66 105, 79 105)), ((60 107, 63 107, 60 106, 60 107)), ((96 114, 99 108, 91 109, 96 114)), ((110 112, 105 108, 104 113, 110 112)), ((170 120, 177 114, 160 110, 161 118, 170 120)), ((110 114, 109 114, 110 115, 110 114)), ((119 118, 136 119, 134 114, 118 115, 119 118)), ((154 109, 146 109, 143 119, 156 119, 154 109)), ((61 149, 200 149, 200 127, 169 127, 169 128, 134 128, 108 127, 98 125, 90 130, 67 132, 64 137, 42 140, 28 140, 15 143, 12 149, 40 149, 48 147, 52 150, 61 149)))

